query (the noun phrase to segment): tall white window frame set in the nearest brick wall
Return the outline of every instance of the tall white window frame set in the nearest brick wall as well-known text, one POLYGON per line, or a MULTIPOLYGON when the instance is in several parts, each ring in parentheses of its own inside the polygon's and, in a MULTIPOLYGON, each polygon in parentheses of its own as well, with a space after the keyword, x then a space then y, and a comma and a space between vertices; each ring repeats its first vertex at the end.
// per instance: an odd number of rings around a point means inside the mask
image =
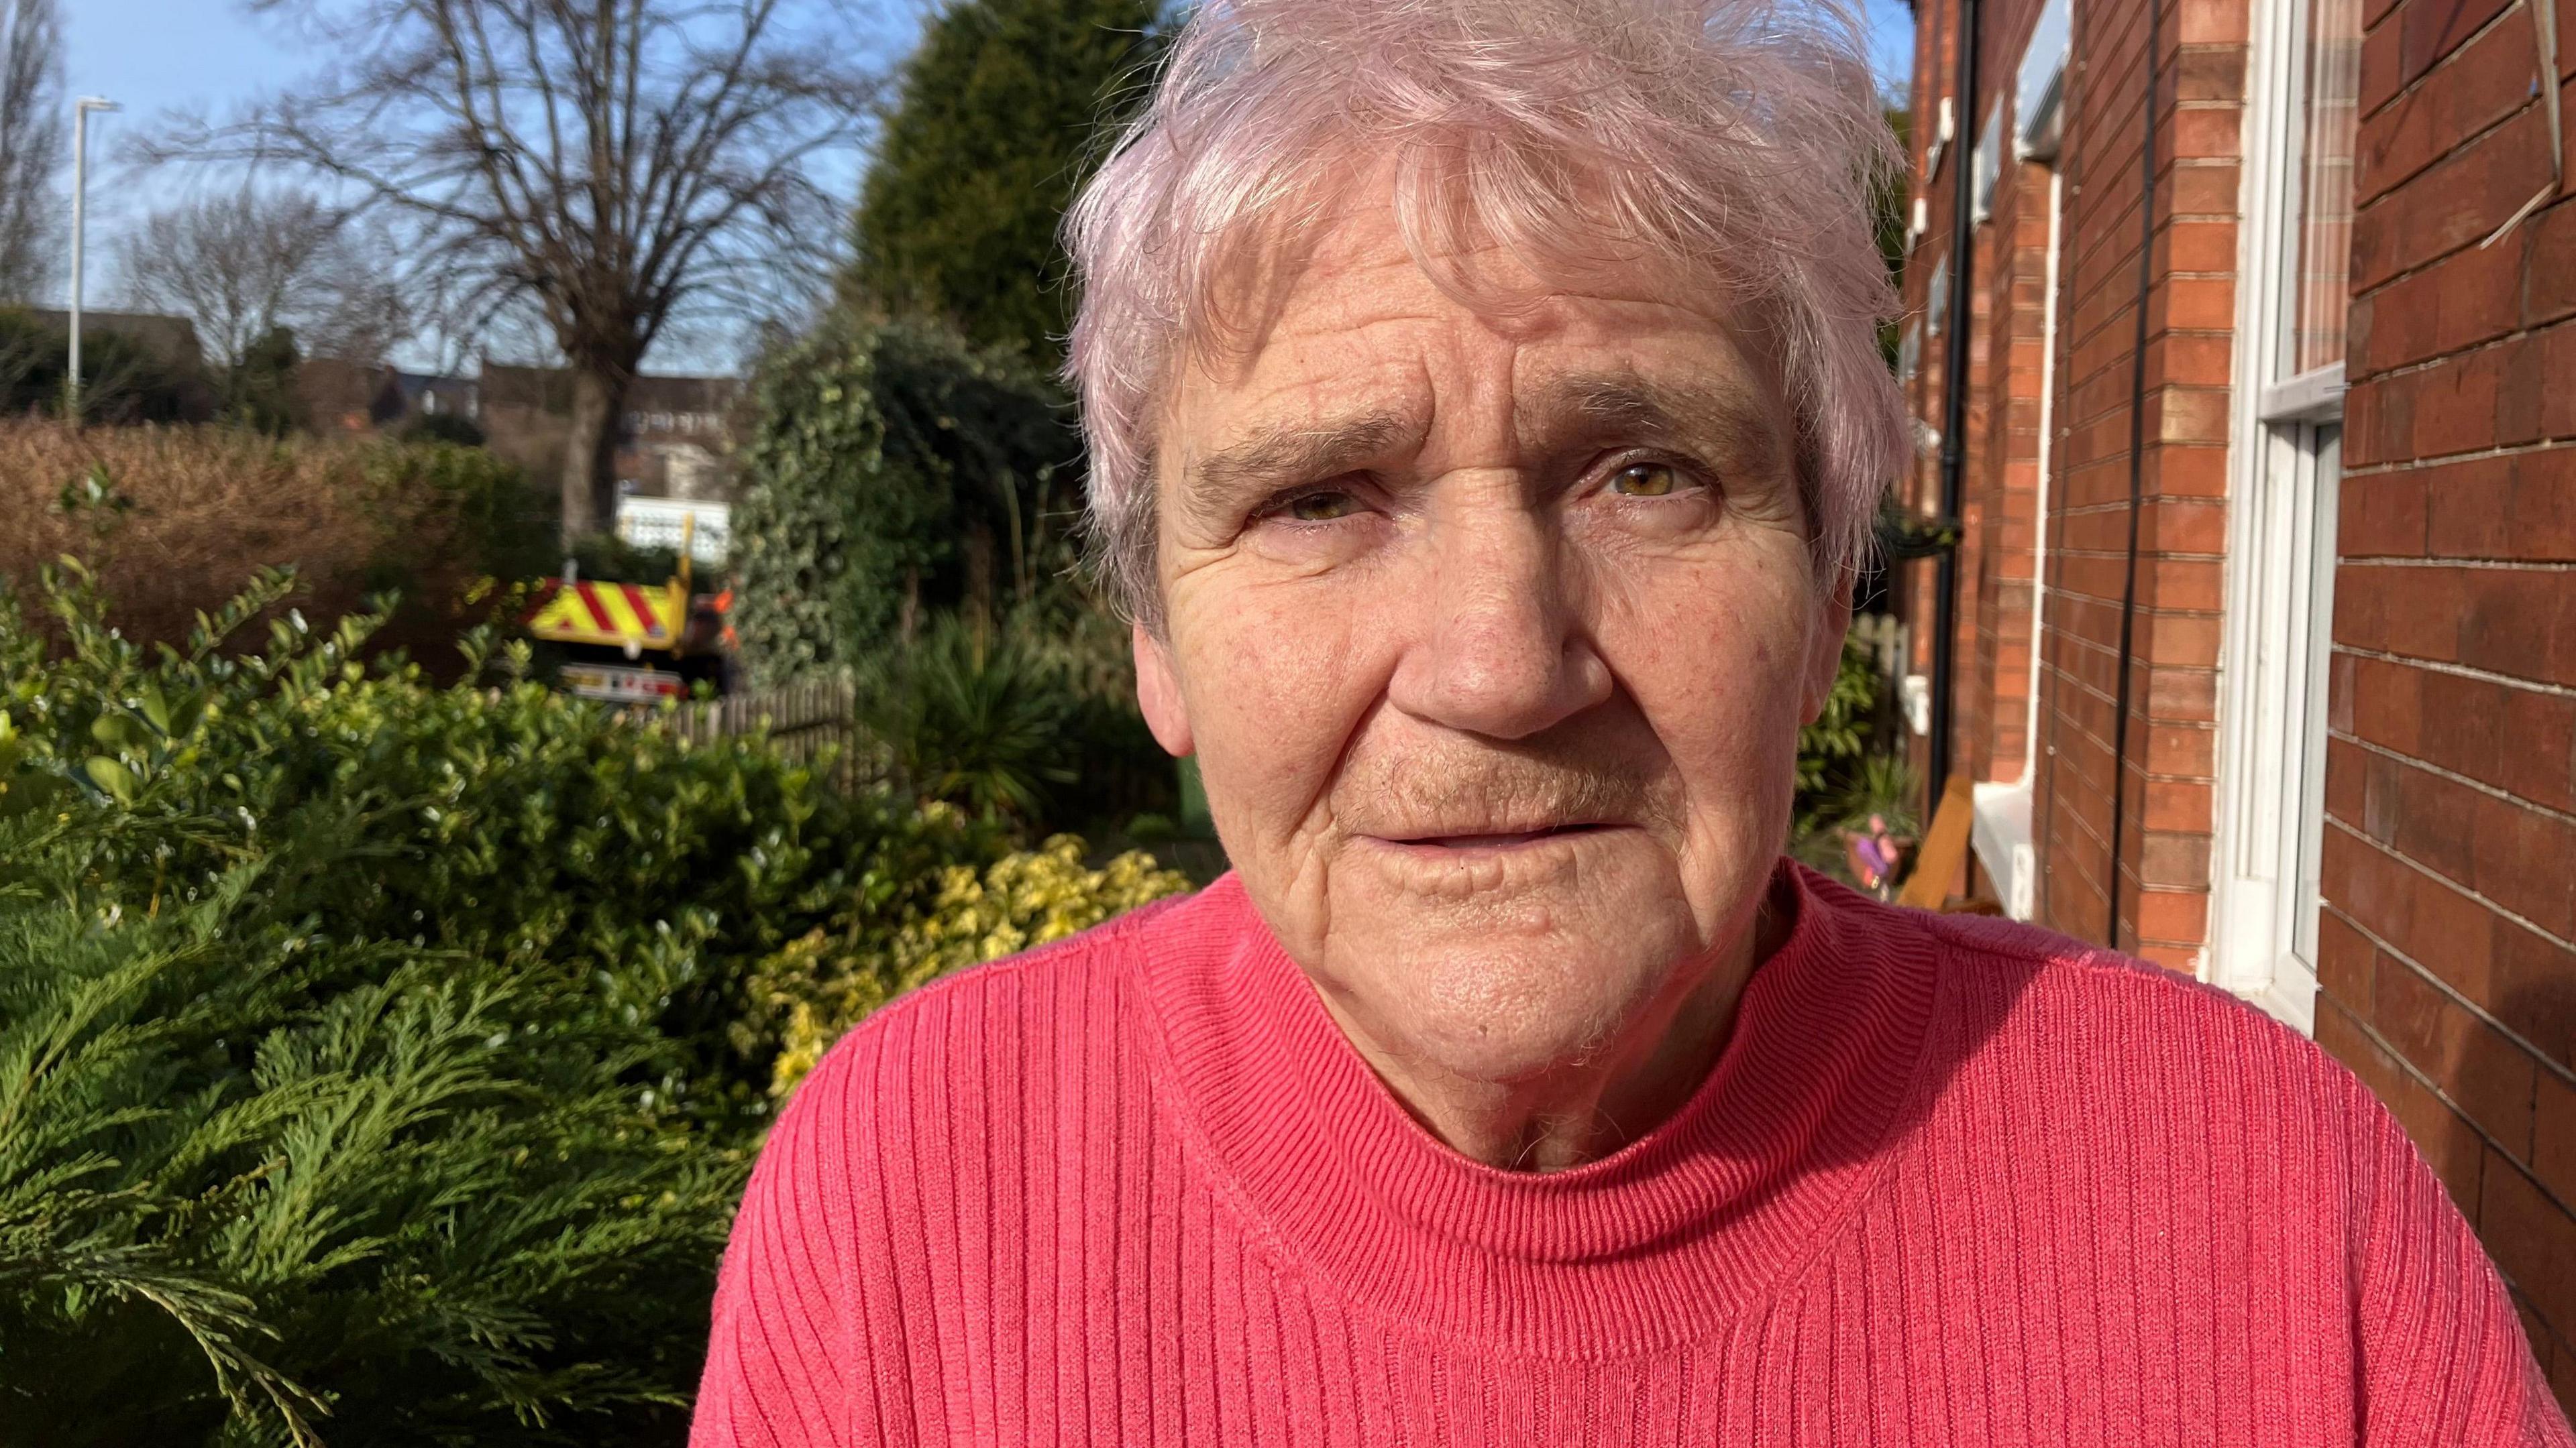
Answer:
POLYGON ((2342 363, 2282 376, 2295 356, 2308 3, 2257 0, 2249 36, 2218 819, 2210 948, 2200 961, 2202 979, 2303 1033, 2316 1031, 2316 971, 2303 948, 2313 951, 2318 912, 2331 477, 2344 417, 2342 363), (2300 848, 2300 837, 2318 845, 2300 848))

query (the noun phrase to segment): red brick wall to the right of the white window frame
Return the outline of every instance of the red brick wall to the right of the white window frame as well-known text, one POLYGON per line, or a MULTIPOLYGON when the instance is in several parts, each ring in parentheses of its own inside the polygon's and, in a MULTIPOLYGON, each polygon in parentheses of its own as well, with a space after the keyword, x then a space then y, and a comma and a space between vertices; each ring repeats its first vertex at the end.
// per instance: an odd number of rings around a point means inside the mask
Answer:
POLYGON ((2530 8, 2365 21, 2316 1038, 2576 1402, 2576 201, 2481 247, 2550 183, 2530 8))

